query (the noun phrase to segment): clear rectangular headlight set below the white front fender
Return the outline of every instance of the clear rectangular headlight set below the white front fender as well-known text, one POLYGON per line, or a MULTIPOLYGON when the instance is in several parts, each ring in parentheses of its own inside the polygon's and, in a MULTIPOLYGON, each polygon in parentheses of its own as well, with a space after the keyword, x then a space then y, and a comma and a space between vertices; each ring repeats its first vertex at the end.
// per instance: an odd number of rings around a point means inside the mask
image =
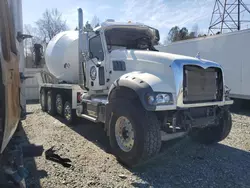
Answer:
POLYGON ((171 93, 153 93, 146 96, 149 105, 169 105, 173 104, 173 95, 171 93))

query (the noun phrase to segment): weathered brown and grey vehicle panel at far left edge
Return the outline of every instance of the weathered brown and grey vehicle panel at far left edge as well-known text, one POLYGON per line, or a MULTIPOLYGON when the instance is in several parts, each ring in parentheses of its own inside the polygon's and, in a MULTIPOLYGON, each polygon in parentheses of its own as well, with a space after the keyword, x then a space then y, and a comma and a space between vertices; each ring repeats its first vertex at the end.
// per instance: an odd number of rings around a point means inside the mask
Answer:
POLYGON ((20 119, 19 57, 13 17, 7 0, 0 1, 0 152, 13 136, 20 119))

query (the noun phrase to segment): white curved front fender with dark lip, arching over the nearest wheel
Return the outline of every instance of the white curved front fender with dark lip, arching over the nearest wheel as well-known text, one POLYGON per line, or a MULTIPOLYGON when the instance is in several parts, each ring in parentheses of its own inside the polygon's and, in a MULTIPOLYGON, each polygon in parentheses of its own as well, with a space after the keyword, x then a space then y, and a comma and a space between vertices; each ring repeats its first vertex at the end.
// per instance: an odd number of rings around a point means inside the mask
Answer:
POLYGON ((151 106, 146 103, 145 96, 147 93, 174 93, 175 91, 173 87, 166 83, 164 79, 160 78, 160 76, 156 76, 146 72, 131 72, 124 74, 111 85, 109 89, 109 96, 115 89, 119 87, 132 89, 139 97, 143 107, 148 111, 155 111, 157 109, 156 106, 151 106))

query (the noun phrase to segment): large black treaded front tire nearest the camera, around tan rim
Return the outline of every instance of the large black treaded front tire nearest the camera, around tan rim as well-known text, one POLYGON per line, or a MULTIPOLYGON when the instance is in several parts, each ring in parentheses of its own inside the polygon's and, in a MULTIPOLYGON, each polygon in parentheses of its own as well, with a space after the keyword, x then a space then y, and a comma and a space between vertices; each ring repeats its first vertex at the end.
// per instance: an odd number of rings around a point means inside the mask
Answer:
POLYGON ((110 105, 112 116, 109 140, 117 160, 128 167, 134 167, 155 156, 161 148, 160 123, 156 115, 144 110, 139 102, 128 99, 112 100, 110 105), (134 130, 134 141, 127 151, 121 148, 117 139, 119 134, 116 131, 116 123, 121 118, 126 118, 134 130))

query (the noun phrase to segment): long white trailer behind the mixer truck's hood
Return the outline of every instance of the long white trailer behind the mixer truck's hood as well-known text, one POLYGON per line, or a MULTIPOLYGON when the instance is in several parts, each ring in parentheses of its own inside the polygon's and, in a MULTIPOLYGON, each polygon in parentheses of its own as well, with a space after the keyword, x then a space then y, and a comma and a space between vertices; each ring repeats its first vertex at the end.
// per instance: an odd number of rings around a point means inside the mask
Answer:
POLYGON ((250 99, 250 29, 156 46, 161 52, 196 56, 219 62, 230 97, 250 99))

